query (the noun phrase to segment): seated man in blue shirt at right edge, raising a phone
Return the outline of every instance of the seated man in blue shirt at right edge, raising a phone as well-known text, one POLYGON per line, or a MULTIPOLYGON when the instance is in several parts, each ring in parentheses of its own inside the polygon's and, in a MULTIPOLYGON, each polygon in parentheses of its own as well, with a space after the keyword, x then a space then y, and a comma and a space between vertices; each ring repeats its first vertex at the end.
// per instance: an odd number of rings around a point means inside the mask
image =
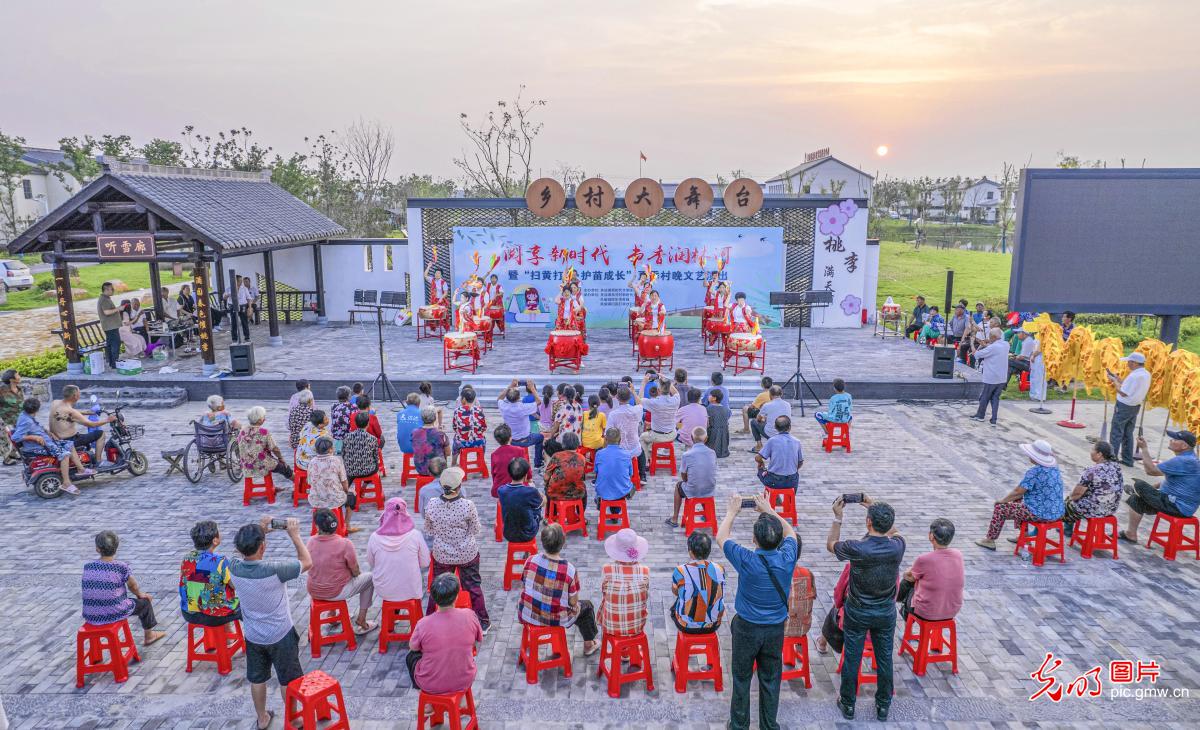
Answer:
POLYGON ((1196 460, 1196 436, 1192 431, 1168 431, 1171 441, 1166 448, 1175 454, 1162 463, 1154 463, 1146 447, 1146 439, 1138 437, 1138 450, 1141 451, 1141 466, 1147 477, 1166 477, 1158 486, 1134 479, 1133 486, 1126 486, 1129 498, 1129 523, 1118 537, 1127 543, 1138 541, 1138 525, 1141 515, 1157 513, 1174 517, 1190 517, 1200 507, 1200 460, 1196 460))

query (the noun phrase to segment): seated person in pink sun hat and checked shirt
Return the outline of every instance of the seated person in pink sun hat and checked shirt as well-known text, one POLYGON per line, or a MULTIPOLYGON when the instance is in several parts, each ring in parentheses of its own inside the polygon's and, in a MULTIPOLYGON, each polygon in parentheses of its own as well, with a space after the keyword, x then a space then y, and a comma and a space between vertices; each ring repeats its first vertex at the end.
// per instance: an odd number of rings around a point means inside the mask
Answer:
POLYGON ((626 527, 604 541, 613 560, 600 568, 600 628, 610 636, 632 636, 646 629, 650 567, 642 563, 650 544, 626 527))

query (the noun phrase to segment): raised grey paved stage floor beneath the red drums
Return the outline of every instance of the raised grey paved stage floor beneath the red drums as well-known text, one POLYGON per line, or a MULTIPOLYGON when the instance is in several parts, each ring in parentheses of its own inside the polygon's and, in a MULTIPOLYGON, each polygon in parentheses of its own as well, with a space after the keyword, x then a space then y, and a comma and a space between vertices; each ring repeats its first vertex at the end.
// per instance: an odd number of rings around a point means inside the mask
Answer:
MULTIPOLYGON (((469 372, 442 371, 442 340, 416 341, 413 327, 385 324, 384 353, 386 372, 396 391, 403 397, 415 390, 419 381, 431 381, 440 400, 454 397, 462 383, 472 383, 485 397, 505 385, 511 378, 533 378, 538 384, 578 382, 587 391, 595 393, 600 383, 616 381, 623 375, 635 375, 635 358, 624 329, 595 329, 588 333, 589 354, 583 358, 578 373, 558 369, 551 373, 545 353, 548 330, 540 328, 510 328, 506 337, 497 335, 494 348, 480 359, 479 370, 469 372)), ((379 372, 377 329, 374 322, 346 324, 300 323, 281 325, 282 345, 268 341, 265 323, 251 328, 254 342, 257 372, 251 377, 205 377, 199 357, 181 358, 167 364, 144 360, 145 372, 121 376, 115 372, 98 377, 62 373, 52 378, 58 394, 66 383, 100 388, 182 388, 190 400, 203 400, 210 394, 240 399, 287 399, 295 391, 296 378, 313 384, 318 401, 332 397, 341 384, 361 381, 370 385, 379 372), (161 372, 163 365, 175 372, 161 372)), ((673 330, 674 367, 688 371, 692 384, 704 384, 709 373, 721 370, 716 354, 704 354, 700 331, 673 330)), ((767 375, 779 382, 796 370, 797 330, 764 329, 767 375)), ((218 369, 229 367, 229 334, 215 335, 218 369)), ((872 337, 870 329, 804 329, 804 353, 800 371, 822 401, 833 393, 830 383, 840 377, 847 390, 862 400, 960 400, 978 397, 979 376, 974 370, 956 366, 953 379, 930 377, 932 353, 911 340, 872 337)), ((725 371, 734 405, 745 402, 758 391, 757 371, 734 377, 732 366, 725 371)), ((638 376, 635 375, 635 378, 638 376)), ((382 394, 377 391, 376 399, 382 394)), ((791 388, 785 393, 791 396, 791 388)), ((814 405, 805 391, 806 405, 814 405)))

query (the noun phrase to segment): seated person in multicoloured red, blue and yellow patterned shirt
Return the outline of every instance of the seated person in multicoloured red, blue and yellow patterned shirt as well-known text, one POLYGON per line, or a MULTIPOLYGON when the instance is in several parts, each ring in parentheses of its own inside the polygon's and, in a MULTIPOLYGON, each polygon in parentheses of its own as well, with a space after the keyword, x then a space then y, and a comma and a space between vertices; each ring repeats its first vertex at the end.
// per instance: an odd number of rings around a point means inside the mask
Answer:
POLYGON ((241 618, 229 574, 233 563, 214 552, 220 545, 216 522, 203 520, 192 526, 194 550, 179 567, 179 610, 187 623, 224 626, 241 618))

